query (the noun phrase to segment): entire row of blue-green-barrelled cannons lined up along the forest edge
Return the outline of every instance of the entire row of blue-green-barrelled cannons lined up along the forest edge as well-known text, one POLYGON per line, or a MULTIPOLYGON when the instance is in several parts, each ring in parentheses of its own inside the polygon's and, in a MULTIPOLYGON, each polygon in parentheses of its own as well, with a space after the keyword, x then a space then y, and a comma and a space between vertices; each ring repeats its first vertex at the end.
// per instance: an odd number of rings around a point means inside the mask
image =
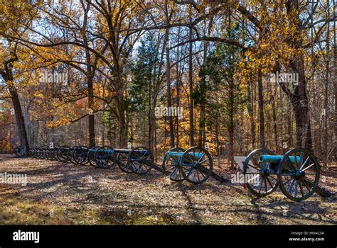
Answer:
MULTIPOLYGON (((20 147, 15 152, 20 154, 20 147)), ((156 169, 172 181, 186 180, 192 184, 202 184, 210 176, 222 183, 230 182, 215 174, 212 157, 203 147, 187 150, 174 147, 164 154, 161 164, 154 162, 154 156, 147 147, 33 147, 28 154, 37 159, 90 164, 103 169, 117 165, 126 173, 139 175, 156 169)), ((332 195, 319 187, 320 165, 309 150, 295 148, 284 155, 276 155, 271 150, 257 149, 247 157, 235 157, 235 161, 242 169, 245 188, 255 196, 268 196, 278 187, 292 201, 304 201, 315 192, 323 197, 332 195)))

